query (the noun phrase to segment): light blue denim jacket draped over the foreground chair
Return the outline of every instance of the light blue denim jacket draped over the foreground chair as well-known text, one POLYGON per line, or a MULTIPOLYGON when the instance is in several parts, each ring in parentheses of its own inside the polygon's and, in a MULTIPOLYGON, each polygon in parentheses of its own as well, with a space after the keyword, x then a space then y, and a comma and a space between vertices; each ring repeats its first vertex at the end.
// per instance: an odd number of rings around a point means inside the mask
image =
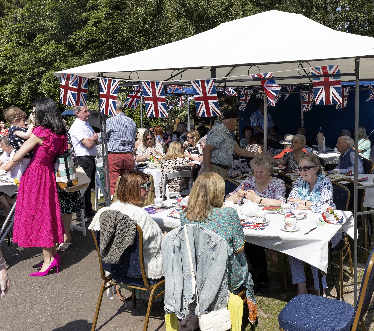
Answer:
MULTIPOLYGON (((202 226, 187 225, 200 313, 226 308, 228 246, 225 239, 202 226)), ((165 312, 184 319, 195 301, 183 226, 170 231, 162 241, 165 275, 165 312)))

